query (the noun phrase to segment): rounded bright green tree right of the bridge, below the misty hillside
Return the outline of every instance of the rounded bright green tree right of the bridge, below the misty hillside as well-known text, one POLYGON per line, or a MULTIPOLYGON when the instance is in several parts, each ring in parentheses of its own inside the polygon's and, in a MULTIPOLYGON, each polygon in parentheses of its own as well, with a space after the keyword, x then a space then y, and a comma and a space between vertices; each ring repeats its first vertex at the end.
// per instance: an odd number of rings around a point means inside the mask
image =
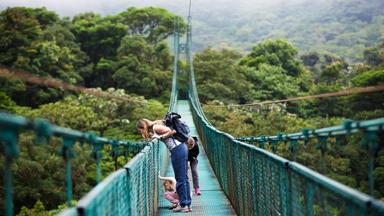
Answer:
POLYGON ((248 67, 245 77, 253 84, 254 99, 284 99, 309 89, 311 75, 296 55, 297 48, 287 41, 266 40, 240 60, 248 67))

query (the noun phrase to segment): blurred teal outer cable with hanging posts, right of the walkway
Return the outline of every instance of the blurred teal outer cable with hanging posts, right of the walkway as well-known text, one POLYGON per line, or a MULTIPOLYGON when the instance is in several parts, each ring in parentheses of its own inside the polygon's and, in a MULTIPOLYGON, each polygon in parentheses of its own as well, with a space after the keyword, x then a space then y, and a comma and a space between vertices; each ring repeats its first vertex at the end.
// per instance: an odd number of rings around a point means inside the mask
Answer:
POLYGON ((288 143, 288 150, 292 160, 296 160, 299 150, 299 141, 307 144, 311 139, 316 140, 315 148, 320 152, 320 172, 326 172, 326 154, 330 150, 330 140, 335 140, 332 145, 342 145, 343 140, 352 134, 360 134, 361 150, 367 152, 368 156, 368 186, 369 194, 374 194, 374 161, 375 155, 380 151, 379 137, 384 127, 384 118, 372 119, 367 121, 347 120, 342 125, 322 128, 322 129, 303 129, 302 132, 292 134, 278 134, 276 136, 259 136, 259 137, 242 137, 237 138, 239 141, 257 145, 259 148, 265 149, 267 146, 275 153, 277 145, 288 143))

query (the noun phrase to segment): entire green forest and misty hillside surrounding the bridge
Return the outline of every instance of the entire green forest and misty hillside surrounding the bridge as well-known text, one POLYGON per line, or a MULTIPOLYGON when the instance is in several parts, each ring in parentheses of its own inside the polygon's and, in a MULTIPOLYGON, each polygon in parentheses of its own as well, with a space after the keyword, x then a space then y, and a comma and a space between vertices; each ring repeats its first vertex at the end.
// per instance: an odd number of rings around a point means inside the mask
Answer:
MULTIPOLYGON (((142 140, 136 121, 161 119, 172 83, 174 21, 186 31, 187 4, 145 1, 76 10, 0 3, 0 65, 33 76, 130 98, 119 101, 0 77, 0 110, 122 140, 142 140), (91 11, 89 11, 91 10, 91 11), (74 13, 75 11, 76 13, 74 13)), ((384 117, 382 92, 242 106, 266 100, 384 84, 382 0, 194 1, 193 66, 205 115, 235 137, 299 132, 347 119, 384 117), (230 106, 239 105, 239 106, 230 106)), ((186 69, 186 62, 178 62, 186 69)), ((181 74, 181 83, 186 82, 181 74)), ((181 89, 185 94, 186 89, 181 89)), ((375 198, 384 200, 384 143, 375 155, 375 198)), ((338 141, 339 142, 339 141, 338 141)), ((368 193, 368 157, 352 137, 329 146, 320 167, 316 143, 301 146, 297 161, 368 193)), ((335 141, 336 143, 336 141, 335 141)), ((65 208, 64 161, 59 140, 36 145, 22 133, 12 167, 18 215, 54 215, 65 208), (26 181, 28 179, 28 181, 26 181)), ((1 146, 1 145, 0 145, 1 146)), ((77 144, 74 199, 95 186, 92 149, 77 144)), ((0 200, 4 200, 0 148, 0 200)), ((282 146, 277 154, 290 158, 282 146)), ((113 159, 103 149, 102 178, 134 156, 113 159)), ((4 212, 0 203, 0 212, 4 212)))

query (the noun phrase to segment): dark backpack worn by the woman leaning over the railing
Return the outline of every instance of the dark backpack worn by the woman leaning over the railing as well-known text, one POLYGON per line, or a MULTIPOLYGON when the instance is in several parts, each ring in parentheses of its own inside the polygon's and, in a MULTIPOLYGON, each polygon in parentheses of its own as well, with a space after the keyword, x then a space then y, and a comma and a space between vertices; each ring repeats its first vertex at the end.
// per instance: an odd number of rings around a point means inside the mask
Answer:
POLYGON ((164 117, 164 124, 172 130, 176 131, 176 134, 173 135, 173 138, 182 143, 187 142, 190 129, 184 121, 181 121, 181 116, 178 113, 167 113, 164 117))

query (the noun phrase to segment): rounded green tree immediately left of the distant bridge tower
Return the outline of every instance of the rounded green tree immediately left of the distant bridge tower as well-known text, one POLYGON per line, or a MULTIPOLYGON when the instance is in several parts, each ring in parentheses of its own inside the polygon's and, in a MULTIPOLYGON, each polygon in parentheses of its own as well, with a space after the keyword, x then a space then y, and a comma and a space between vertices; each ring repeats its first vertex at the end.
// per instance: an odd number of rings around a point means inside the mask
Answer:
POLYGON ((112 79, 118 88, 168 100, 171 88, 170 55, 167 46, 150 45, 143 36, 125 36, 118 48, 118 66, 112 79))

